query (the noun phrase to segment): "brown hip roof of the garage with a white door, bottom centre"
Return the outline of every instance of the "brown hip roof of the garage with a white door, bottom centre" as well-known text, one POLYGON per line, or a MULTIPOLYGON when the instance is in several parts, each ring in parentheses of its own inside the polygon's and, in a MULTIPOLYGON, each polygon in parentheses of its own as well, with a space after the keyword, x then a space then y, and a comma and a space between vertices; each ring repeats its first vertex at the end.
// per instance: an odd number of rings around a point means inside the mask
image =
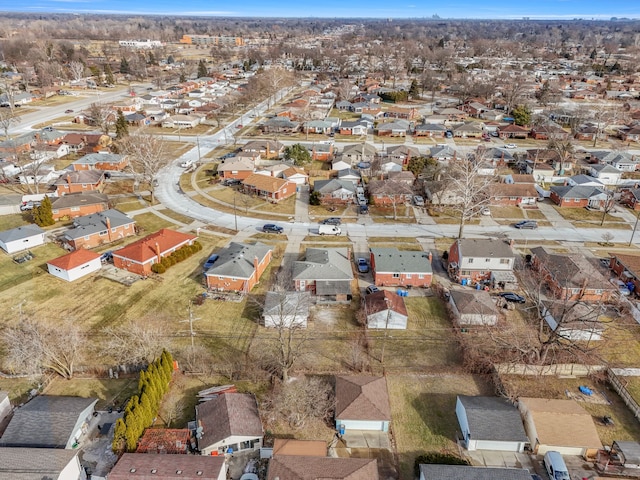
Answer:
POLYGON ((336 418, 391 420, 386 378, 367 375, 336 377, 336 418))

